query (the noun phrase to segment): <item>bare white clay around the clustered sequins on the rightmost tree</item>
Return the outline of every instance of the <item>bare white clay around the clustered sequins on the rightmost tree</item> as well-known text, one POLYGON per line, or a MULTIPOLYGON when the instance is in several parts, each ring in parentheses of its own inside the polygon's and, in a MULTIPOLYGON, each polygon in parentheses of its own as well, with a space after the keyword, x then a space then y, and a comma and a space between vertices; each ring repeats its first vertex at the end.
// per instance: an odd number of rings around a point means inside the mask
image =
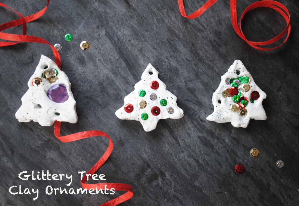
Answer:
MULTIPOLYGON (((240 89, 240 86, 239 86, 240 89)), ((214 112, 210 114, 207 119, 209 121, 214 121, 218 123, 223 122, 231 122, 231 124, 234 127, 247 127, 249 124, 250 119, 257 119, 257 120, 266 120, 267 116, 264 110, 264 107, 262 105, 263 99, 266 99, 266 93, 264 93, 254 82, 254 79, 252 78, 251 74, 247 71, 245 66, 240 60, 235 60, 233 65, 230 66, 228 69, 228 72, 226 72, 221 77, 221 82, 219 84, 219 87, 216 89, 216 91, 213 93, 213 106, 214 106, 214 112), (240 72, 239 75, 237 75, 237 71, 240 72), (224 98, 222 96, 222 91, 226 90, 227 88, 231 88, 230 85, 227 85, 225 83, 226 78, 237 78, 240 76, 249 75, 251 80, 249 82, 250 90, 245 93, 245 97, 248 98, 248 100, 251 99, 250 95, 253 91, 258 91, 260 93, 260 98, 255 100, 254 103, 248 102, 248 106, 245 107, 248 111, 247 115, 245 117, 242 117, 238 114, 238 112, 234 112, 230 110, 230 105, 235 104, 231 97, 224 98), (218 101, 221 101, 219 104, 218 101)))

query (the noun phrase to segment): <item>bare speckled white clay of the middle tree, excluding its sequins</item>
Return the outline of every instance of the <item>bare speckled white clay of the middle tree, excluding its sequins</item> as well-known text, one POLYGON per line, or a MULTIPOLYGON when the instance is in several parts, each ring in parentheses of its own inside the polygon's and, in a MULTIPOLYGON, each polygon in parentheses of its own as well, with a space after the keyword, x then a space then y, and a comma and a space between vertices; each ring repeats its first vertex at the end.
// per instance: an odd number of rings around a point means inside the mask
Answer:
POLYGON ((141 81, 135 84, 135 90, 124 98, 125 104, 115 112, 119 119, 137 120, 142 124, 144 131, 152 131, 156 128, 159 119, 179 119, 184 116, 184 111, 176 104, 177 97, 166 89, 166 85, 158 78, 158 74, 159 72, 149 63, 141 76, 141 81), (149 72, 152 72, 152 75, 150 75, 149 72), (150 87, 150 82, 152 81, 158 81, 159 88, 157 90, 150 87), (146 95, 140 97, 139 90, 145 90, 146 95), (157 99, 154 101, 149 98, 152 93, 157 95, 157 99), (147 106, 144 109, 138 108, 138 102, 141 99, 147 102, 147 106), (166 106, 161 106, 161 99, 167 100, 166 106), (134 110, 131 113, 127 113, 124 110, 126 104, 133 105, 134 110), (155 106, 161 109, 161 113, 158 116, 152 115, 151 112, 152 107, 155 106), (174 113, 168 113, 167 109, 169 107, 173 107, 174 113), (142 113, 147 113, 149 118, 147 120, 142 120, 142 113))

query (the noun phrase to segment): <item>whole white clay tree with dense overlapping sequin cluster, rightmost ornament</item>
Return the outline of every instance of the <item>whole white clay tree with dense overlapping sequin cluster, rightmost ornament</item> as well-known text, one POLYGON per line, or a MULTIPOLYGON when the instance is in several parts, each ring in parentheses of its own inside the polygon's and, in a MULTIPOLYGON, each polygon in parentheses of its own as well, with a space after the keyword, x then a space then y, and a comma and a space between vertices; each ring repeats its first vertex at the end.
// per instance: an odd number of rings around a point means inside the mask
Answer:
POLYGON ((213 93, 214 112, 207 119, 245 128, 250 119, 267 119, 263 99, 266 99, 266 93, 255 84, 243 63, 235 60, 213 93))

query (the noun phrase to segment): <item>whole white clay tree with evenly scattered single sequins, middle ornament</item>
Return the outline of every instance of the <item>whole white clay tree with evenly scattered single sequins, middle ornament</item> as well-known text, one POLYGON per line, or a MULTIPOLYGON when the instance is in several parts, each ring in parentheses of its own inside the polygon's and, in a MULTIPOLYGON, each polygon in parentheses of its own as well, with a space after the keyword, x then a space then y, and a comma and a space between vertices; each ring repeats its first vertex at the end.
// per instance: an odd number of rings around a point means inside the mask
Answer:
POLYGON ((135 90, 124 98, 125 104, 115 114, 119 119, 141 122, 144 131, 156 128, 159 119, 179 119, 184 111, 176 105, 177 97, 158 78, 159 72, 149 63, 135 90))

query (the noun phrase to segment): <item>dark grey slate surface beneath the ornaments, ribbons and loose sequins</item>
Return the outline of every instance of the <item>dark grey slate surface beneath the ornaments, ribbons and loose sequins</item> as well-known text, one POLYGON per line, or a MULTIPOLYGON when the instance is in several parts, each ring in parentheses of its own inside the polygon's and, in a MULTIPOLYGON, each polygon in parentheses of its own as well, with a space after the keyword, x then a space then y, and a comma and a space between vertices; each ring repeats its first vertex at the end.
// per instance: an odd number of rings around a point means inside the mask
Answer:
MULTIPOLYGON (((45 0, 9 1, 24 16, 45 6, 45 0)), ((238 1, 240 16, 254 0, 238 1)), ((79 121, 62 123, 62 134, 85 130, 107 132, 114 142, 112 155, 97 172, 107 182, 132 185, 134 197, 122 205, 299 205, 298 1, 282 1, 291 13, 292 32, 280 49, 262 52, 248 46, 232 28, 229 1, 218 1, 201 17, 181 17, 176 1, 58 1, 51 0, 45 15, 28 24, 28 34, 60 43, 62 69, 72 83, 79 121), (64 35, 71 33, 71 42, 64 35), (79 44, 88 40, 88 51, 79 44), (235 59, 241 60, 258 86, 268 120, 251 120, 248 128, 208 122, 212 94, 235 59), (120 120, 115 111, 148 63, 178 97, 185 116, 160 120, 144 132, 137 121, 120 120), (261 155, 254 159, 249 151, 261 155), (277 168, 278 159, 285 166, 277 168), (242 163, 238 175, 234 166, 242 163)), ((186 0, 191 13, 203 1, 186 0)), ((16 19, 0 8, 1 23, 16 19)), ((274 10, 259 8, 243 22, 250 40, 263 41, 283 30, 285 22, 274 10)), ((7 30, 21 33, 21 27, 7 30)), ((27 81, 47 45, 21 43, 0 49, 0 205, 99 205, 112 196, 51 195, 45 187, 66 187, 67 181, 21 181, 19 172, 50 170, 74 176, 89 170, 103 154, 108 140, 89 138, 61 143, 53 126, 19 123, 15 113, 27 91, 27 81), (33 195, 11 195, 12 185, 38 188, 33 195)), ((117 197, 117 192, 113 197, 117 197)))

